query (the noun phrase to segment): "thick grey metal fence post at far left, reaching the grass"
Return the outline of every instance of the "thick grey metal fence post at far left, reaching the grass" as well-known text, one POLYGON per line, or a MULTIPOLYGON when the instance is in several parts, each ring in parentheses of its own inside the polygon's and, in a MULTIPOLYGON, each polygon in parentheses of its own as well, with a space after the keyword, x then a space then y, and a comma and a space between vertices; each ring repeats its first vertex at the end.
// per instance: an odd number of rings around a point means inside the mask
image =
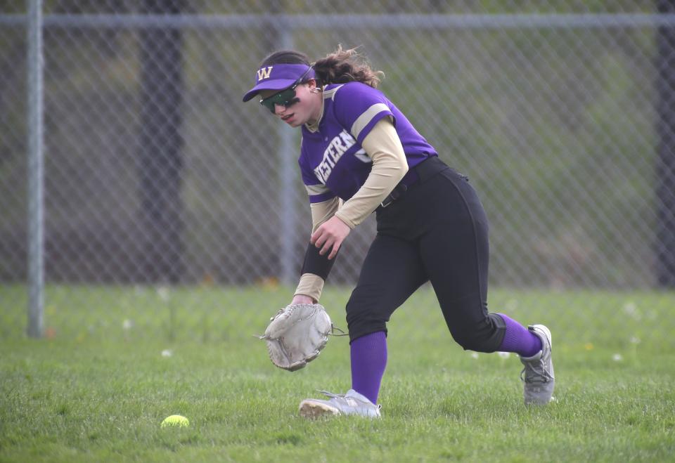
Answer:
POLYGON ((28 327, 41 337, 44 325, 44 157, 42 113, 42 0, 30 0, 28 46, 28 327))

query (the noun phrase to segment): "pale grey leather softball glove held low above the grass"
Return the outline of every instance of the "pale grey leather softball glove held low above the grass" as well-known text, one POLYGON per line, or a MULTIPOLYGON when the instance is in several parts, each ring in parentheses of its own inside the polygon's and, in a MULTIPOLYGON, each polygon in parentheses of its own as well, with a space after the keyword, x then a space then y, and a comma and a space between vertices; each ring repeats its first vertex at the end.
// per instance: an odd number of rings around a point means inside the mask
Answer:
POLYGON ((269 358, 279 368, 300 370, 319 356, 333 324, 321 304, 290 304, 282 308, 265 330, 269 358))

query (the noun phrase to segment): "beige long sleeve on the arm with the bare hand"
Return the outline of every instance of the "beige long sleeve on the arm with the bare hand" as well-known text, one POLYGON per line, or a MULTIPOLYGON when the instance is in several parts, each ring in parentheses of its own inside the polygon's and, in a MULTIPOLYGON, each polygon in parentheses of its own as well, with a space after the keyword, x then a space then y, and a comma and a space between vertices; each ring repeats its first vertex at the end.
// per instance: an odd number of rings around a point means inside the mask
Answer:
POLYGON ((373 169, 354 196, 335 212, 335 216, 347 223, 349 228, 366 220, 408 171, 401 139, 388 117, 373 126, 361 146, 373 159, 373 169))

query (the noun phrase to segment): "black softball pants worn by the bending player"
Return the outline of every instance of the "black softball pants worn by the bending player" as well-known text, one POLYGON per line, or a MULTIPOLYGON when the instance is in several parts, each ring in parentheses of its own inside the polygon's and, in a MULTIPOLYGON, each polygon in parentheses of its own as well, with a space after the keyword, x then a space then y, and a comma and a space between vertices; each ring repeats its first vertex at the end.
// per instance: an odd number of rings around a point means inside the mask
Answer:
POLYGON ((482 204, 468 178, 437 157, 415 171, 418 181, 376 210, 378 234, 347 303, 349 338, 386 333, 392 313, 430 281, 455 341, 494 352, 506 325, 487 311, 489 244, 482 204))

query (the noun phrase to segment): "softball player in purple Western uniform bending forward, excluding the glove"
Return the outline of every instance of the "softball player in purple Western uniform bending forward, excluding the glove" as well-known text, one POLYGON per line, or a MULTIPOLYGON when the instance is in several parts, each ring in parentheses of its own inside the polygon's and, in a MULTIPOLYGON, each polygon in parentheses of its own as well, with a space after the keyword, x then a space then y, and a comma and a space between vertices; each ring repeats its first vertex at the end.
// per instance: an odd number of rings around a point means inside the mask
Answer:
POLYGON ((463 348, 514 352, 525 368, 525 403, 553 393, 551 332, 487 311, 488 223, 468 178, 382 92, 378 72, 338 48, 310 64, 297 51, 268 56, 243 100, 301 127, 300 171, 312 233, 292 304, 319 301, 349 232, 375 211, 377 235, 347 303, 352 389, 307 399, 300 414, 380 417, 390 315, 430 281, 452 337, 463 348))

